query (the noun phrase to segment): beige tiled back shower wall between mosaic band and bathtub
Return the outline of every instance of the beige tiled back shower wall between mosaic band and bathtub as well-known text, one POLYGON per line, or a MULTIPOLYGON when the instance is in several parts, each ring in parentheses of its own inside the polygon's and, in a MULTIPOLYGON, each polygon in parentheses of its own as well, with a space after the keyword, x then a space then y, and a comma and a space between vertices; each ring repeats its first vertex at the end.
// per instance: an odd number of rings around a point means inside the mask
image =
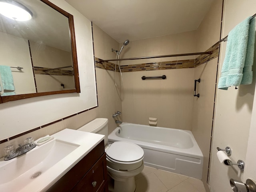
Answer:
POLYGON ((124 122, 146 124, 158 118, 157 126, 191 129, 194 68, 123 73, 124 122), (167 78, 142 80, 142 76, 167 78))

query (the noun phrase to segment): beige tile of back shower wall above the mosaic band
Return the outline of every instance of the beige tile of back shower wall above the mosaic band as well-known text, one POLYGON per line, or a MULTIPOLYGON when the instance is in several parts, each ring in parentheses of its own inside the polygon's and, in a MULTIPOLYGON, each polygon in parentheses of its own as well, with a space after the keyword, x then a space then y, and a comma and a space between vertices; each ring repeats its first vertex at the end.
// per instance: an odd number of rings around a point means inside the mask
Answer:
MULTIPOLYGON (((119 48, 123 42, 119 44, 119 48)), ((143 40, 130 42, 124 47, 120 58, 158 56, 170 54, 183 54, 195 52, 196 48, 196 32, 183 32, 180 34, 172 34, 143 40)), ((163 62, 177 59, 194 59, 195 56, 186 57, 168 57, 168 58, 153 58, 143 60, 128 60, 120 61, 121 65, 131 65, 139 63, 163 62)))

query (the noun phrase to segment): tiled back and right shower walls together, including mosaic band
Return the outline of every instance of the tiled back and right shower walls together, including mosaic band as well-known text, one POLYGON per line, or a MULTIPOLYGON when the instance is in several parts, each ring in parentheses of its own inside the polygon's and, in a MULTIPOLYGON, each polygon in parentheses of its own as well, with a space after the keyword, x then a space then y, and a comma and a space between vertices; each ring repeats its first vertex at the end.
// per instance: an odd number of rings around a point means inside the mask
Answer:
MULTIPOLYGON (((186 56, 120 61, 124 77, 122 112, 124 122, 148 124, 157 117, 157 126, 191 130, 204 155, 203 182, 206 183, 214 112, 222 0, 212 4, 196 31, 130 42, 121 58, 213 51, 210 56, 186 56), (172 69, 170 69, 172 68, 172 69), (162 76, 166 80, 142 80, 162 76), (200 98, 193 97, 194 80, 200 98)), ((122 43, 120 43, 122 46, 122 43)), ((120 47, 119 47, 120 48, 120 47)), ((100 58, 102 59, 102 58, 100 58)), ((114 70, 110 62, 96 67, 114 70)), ((113 62, 114 63, 114 62, 113 62)))

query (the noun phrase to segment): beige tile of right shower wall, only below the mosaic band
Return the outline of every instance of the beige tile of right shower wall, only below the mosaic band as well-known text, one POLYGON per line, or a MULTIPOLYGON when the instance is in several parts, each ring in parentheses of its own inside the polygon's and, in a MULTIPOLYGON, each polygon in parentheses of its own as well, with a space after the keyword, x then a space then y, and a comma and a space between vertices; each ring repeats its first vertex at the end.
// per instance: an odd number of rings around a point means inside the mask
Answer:
POLYGON ((212 131, 212 115, 214 108, 215 81, 218 58, 195 68, 194 79, 200 78, 197 83, 197 93, 194 97, 192 114, 192 133, 204 156, 202 180, 206 184, 212 131))

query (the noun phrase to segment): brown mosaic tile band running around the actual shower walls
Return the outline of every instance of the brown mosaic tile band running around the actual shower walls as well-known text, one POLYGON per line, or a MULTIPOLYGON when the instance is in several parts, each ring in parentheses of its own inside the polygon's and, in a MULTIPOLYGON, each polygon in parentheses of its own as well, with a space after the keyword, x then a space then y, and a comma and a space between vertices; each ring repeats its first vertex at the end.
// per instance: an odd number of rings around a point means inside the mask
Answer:
MULTIPOLYGON (((167 62, 154 62, 143 63, 134 65, 122 65, 120 66, 122 72, 135 72, 135 71, 151 71, 151 70, 166 70, 166 69, 183 69, 183 68, 195 68, 200 66, 216 57, 219 54, 219 42, 210 47, 206 52, 212 51, 210 55, 200 55, 196 59, 190 60, 176 60, 167 62)), ((114 71, 115 64, 111 62, 104 62, 99 58, 95 58, 96 68, 114 71)), ((117 68, 117 71, 119 69, 117 68)))

